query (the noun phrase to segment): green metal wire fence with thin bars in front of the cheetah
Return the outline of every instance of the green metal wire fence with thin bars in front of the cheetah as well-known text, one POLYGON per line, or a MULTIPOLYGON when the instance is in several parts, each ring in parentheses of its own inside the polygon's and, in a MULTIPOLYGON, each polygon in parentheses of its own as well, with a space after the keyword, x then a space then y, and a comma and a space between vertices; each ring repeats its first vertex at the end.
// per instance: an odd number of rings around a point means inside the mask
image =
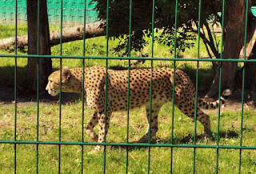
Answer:
MULTIPOLYGON (((38 0, 39 1, 39 0, 38 0)), ((62 1, 63 3, 63 1, 62 1)), ((106 18, 106 56, 103 56, 103 57, 91 57, 91 56, 86 56, 85 55, 85 51, 84 51, 84 55, 83 56, 74 56, 72 58, 74 59, 82 59, 83 60, 83 68, 85 68, 85 60, 91 60, 91 61, 94 61, 96 59, 103 59, 103 60, 106 60, 106 68, 108 68, 108 61, 109 60, 114 60, 114 59, 122 59, 122 60, 128 60, 129 61, 129 66, 128 66, 128 71, 130 73, 130 61, 131 60, 145 60, 145 61, 151 61, 151 71, 153 70, 153 62, 154 61, 174 61, 174 69, 176 69, 176 64, 175 62, 176 61, 195 61, 197 62, 197 66, 199 65, 199 62, 201 61, 219 61, 219 62, 224 62, 224 61, 234 61, 234 62, 254 62, 253 60, 246 60, 246 57, 244 59, 222 59, 222 55, 221 55, 221 58, 219 59, 208 59, 208 58, 200 58, 199 59, 199 44, 200 44, 200 34, 198 33, 198 58, 180 58, 180 57, 177 57, 177 53, 176 53, 176 49, 174 49, 174 57, 165 57, 165 58, 159 58, 159 57, 154 57, 154 0, 153 0, 153 6, 152 6, 152 9, 153 9, 153 13, 152 13, 152 51, 151 51, 151 55, 150 57, 131 57, 130 53, 131 53, 131 48, 130 48, 130 35, 132 34, 132 31, 131 31, 131 14, 132 14, 132 1, 130 1, 130 29, 129 29, 129 55, 128 57, 110 57, 109 56, 109 48, 108 48, 108 44, 109 44, 109 31, 108 31, 108 21, 109 21, 109 18, 108 18, 108 10, 109 10, 109 6, 106 7, 106 13, 107 13, 107 18, 106 18)), ((248 2, 247 2, 248 3, 248 2)), ((15 2, 16 4, 16 11, 15 11, 15 27, 16 27, 16 34, 15 34, 15 37, 17 38, 17 17, 18 17, 18 13, 17 13, 17 4, 18 4, 18 1, 16 0, 15 2)), ((63 8, 63 7, 62 7, 63 8)), ((225 2, 223 1, 223 11, 225 9, 225 2)), ((63 9, 61 9, 63 10, 63 9)), ((199 3, 198 3, 198 18, 199 18, 199 26, 200 26, 200 13, 201 13, 201 10, 202 10, 202 7, 201 7, 201 0, 199 0, 199 3)), ((248 8, 247 8, 248 10, 248 8)), ((176 13, 176 18, 175 18, 175 26, 176 23, 177 23, 177 13, 178 13, 178 0, 176 1, 176 7, 175 7, 175 13, 176 13)), ((38 18, 39 18, 39 11, 38 11, 38 18)), ((61 21, 62 21, 62 16, 60 17, 61 18, 61 21)), ((86 19, 86 15, 84 15, 84 18, 86 19)), ((222 20, 224 20, 224 15, 222 16, 222 20)), ((84 21, 86 22, 86 20, 84 21)), ((61 23, 62 25, 62 23, 61 23)), ((222 25, 223 26, 223 25, 222 25)), ((38 24, 38 27, 39 27, 39 24, 38 24)), ((128 26, 127 26, 128 27, 128 26)), ((86 30, 86 28, 84 29, 86 30)), ((177 30, 177 28, 175 27, 175 30, 177 30)), ((223 29, 222 29, 223 30, 223 29)), ((85 32, 84 32, 85 33, 85 32)), ((245 36, 246 36, 246 33, 245 33, 245 36)), ((223 40, 223 37, 222 37, 222 40, 223 40)), ((16 41, 17 42, 17 41, 16 41)), ((175 32, 175 45, 174 45, 174 48, 176 48, 176 32, 175 32)), ((85 49, 85 44, 86 44, 86 41, 84 41, 84 49, 85 49)), ((246 47, 246 42, 245 42, 245 47, 246 47)), ((13 149, 14 149, 14 164, 13 164, 13 171, 14 173, 17 172, 17 161, 19 160, 18 159, 18 156, 17 156, 17 152, 18 152, 18 145, 19 144, 34 144, 36 146, 36 154, 34 154, 34 156, 36 156, 36 160, 35 160, 35 163, 34 165, 36 166, 36 172, 37 173, 40 173, 40 166, 39 166, 39 163, 40 163, 40 154, 42 153, 42 151, 39 149, 40 147, 42 146, 45 146, 45 145, 50 145, 50 144, 53 144, 53 145, 58 145, 58 173, 66 173, 66 171, 62 171, 62 148, 63 146, 66 146, 66 145, 74 145, 74 146, 78 146, 80 147, 80 151, 81 151, 81 157, 80 157, 80 165, 81 165, 81 173, 84 172, 84 168, 86 166, 86 164, 84 163, 84 159, 86 156, 90 156, 88 158, 94 158, 94 155, 88 155, 88 154, 85 154, 84 153, 84 150, 85 148, 89 147, 89 146, 95 146, 95 145, 98 145, 99 143, 95 143, 95 142, 87 142, 87 141, 84 141, 84 101, 82 100, 82 113, 81 113, 81 117, 82 117, 82 135, 81 135, 81 141, 74 141, 74 142, 70 142, 70 141, 62 141, 62 102, 59 102, 59 116, 58 116, 58 140, 56 141, 46 141, 46 140, 40 140, 40 136, 39 136, 39 124, 40 124, 40 105, 39 105, 39 93, 37 93, 37 138, 36 140, 17 140, 17 121, 18 121, 18 112, 17 112, 17 58, 18 57, 38 57, 38 59, 42 58, 42 57, 49 57, 49 58, 53 58, 53 59, 60 59, 60 69, 62 69, 62 59, 66 59, 66 58, 70 58, 70 56, 62 56, 62 42, 61 42, 61 47, 60 47, 60 55, 20 55, 17 53, 17 45, 15 45, 15 53, 14 54, 0 54, 0 57, 1 58, 15 58, 15 85, 14 85, 14 89, 15 89, 15 93, 14 93, 14 105, 15 105, 15 114, 14 114, 14 140, 2 140, 0 139, 0 147, 1 147, 1 144, 11 144, 13 145, 13 149)), ((39 69, 39 67, 37 66, 37 69, 39 69)), ((198 69, 197 69, 197 80, 196 80, 196 98, 198 97, 198 69)), ((222 69, 220 69, 220 74, 222 73, 222 69)), ((175 73, 174 73, 175 74, 175 73)), ((152 77, 152 76, 151 76, 152 77)), ((39 79, 39 73, 38 73, 38 79, 39 79)), ((61 78, 61 77, 60 77, 61 78)), ((83 77, 84 78, 84 77, 83 77)), ((106 79, 107 79, 107 76, 106 76, 106 79)), ((175 79, 175 77, 174 77, 175 79)), ((151 78, 152 80, 152 78, 151 78)), ((127 79, 128 81, 128 85, 130 84, 130 80, 127 79)), ((107 81, 106 81, 107 83, 107 81)), ((243 83, 244 83, 244 71, 243 71, 243 83)), ((221 83, 220 83, 221 84, 221 83)), ((107 85, 106 85, 107 86, 107 85)), ((244 84, 242 85, 244 86, 244 84)), ((173 88, 174 89, 174 88, 173 88)), ((221 86, 219 87, 219 90, 221 89, 221 86)), ((61 90, 61 88, 60 88, 61 90)), ((150 91, 152 90, 152 81, 150 82, 150 91)), ((244 88, 242 88, 242 93, 244 91, 244 88)), ((106 89, 106 92, 107 92, 107 89, 106 89)), ((84 92, 83 92, 84 94, 84 92)), ((130 90, 128 89, 127 91, 127 108, 129 108, 129 100, 130 100, 130 90)), ((83 95, 82 95, 83 96, 83 95)), ((219 93, 219 97, 220 97, 220 93, 219 93)), ((107 93, 105 93, 105 100, 107 98, 107 93)), ((150 105, 151 105, 151 93, 150 93, 150 105)), ((103 173, 106 173, 107 172, 107 161, 106 161, 106 158, 108 156, 108 153, 107 153, 107 150, 106 150, 106 147, 124 147, 126 149, 126 164, 125 165, 125 168, 126 168, 126 173, 130 173, 130 153, 132 153, 132 151, 130 151, 130 147, 138 147, 138 150, 142 150, 140 147, 146 147, 146 150, 147 150, 147 171, 145 171, 145 173, 153 173, 151 172, 152 168, 151 168, 151 151, 150 149, 151 148, 170 148, 170 173, 173 173, 173 164, 174 164, 174 148, 190 148, 190 149, 193 149, 193 152, 194 152, 194 156, 193 156, 193 164, 191 166, 191 170, 190 172, 193 172, 193 173, 196 173, 196 168, 197 168, 197 157, 198 157, 198 149, 214 149, 216 151, 216 161, 215 161, 215 168, 214 168, 214 171, 212 172, 215 172, 215 173, 218 173, 218 168, 219 168, 219 163, 220 163, 220 150, 221 149, 238 149, 239 151, 239 156, 238 156, 238 172, 239 173, 242 173, 242 156, 244 154, 244 151, 245 150, 251 150, 251 151, 254 151, 256 150, 256 146, 246 146, 246 145, 243 145, 242 144, 242 133, 243 133, 243 114, 244 114, 244 111, 243 111, 243 98, 244 96, 242 95, 242 111, 241 111, 241 117, 239 118, 241 120, 241 125, 240 125, 240 137, 238 138, 239 139, 239 145, 220 145, 220 137, 219 137, 219 129, 220 129, 220 107, 218 108, 218 132, 217 132, 217 142, 216 144, 198 144, 197 142, 197 121, 196 121, 196 117, 194 117, 195 121, 194 121, 194 140, 193 140, 193 143, 192 144, 174 144, 174 93, 173 93, 173 96, 172 96, 173 100, 172 100, 172 103, 169 104, 170 107, 172 107, 172 125, 171 125, 171 130, 168 130, 168 131, 171 131, 171 137, 170 137, 170 143, 163 143, 163 144, 153 144, 153 143, 150 143, 150 139, 148 141, 148 143, 143 143, 143 144, 131 144, 130 141, 129 141, 129 128, 130 128, 130 125, 129 125, 129 122, 130 122, 130 112, 129 112, 129 109, 127 110, 127 120, 126 120, 126 127, 127 127, 127 130, 126 130, 126 134, 127 134, 127 139, 126 139, 126 142, 125 143, 115 143, 115 142, 106 142, 106 140, 104 140, 103 143, 100 143, 100 145, 102 145, 104 147, 104 151, 103 151, 103 163, 101 161, 101 164, 98 164, 98 168, 102 168, 102 172, 103 173)), ((59 100, 62 101, 62 94, 60 93, 59 94, 59 100)), ((106 102, 105 102, 106 103, 106 102)), ((198 105, 197 101, 196 101, 196 105, 198 105)), ((105 106, 106 107, 106 106, 105 106)), ((195 107, 197 108, 197 107, 195 107)), ((151 108, 150 108, 151 109, 151 108)), ((105 108, 105 112, 106 112, 106 108, 105 108)), ((195 112, 195 116, 196 116, 196 112, 195 112)), ((151 117, 151 113, 150 113, 150 117, 151 117)), ((150 119, 151 120, 151 119, 150 119)), ((106 121, 105 121, 106 122, 106 121)), ((111 150, 111 149, 110 149, 111 150)), ((0 148, 0 151, 2 153, 4 153, 4 151, 1 150, 0 148)), ((159 156, 161 156, 161 154, 159 154, 159 156)), ((20 163, 19 163, 20 164, 20 163)), ((207 166, 207 164, 205 164, 207 166)), ((206 167, 207 168, 207 167, 206 167)), ((1 168, 0 168, 1 169, 1 168)), ((118 172, 118 171, 117 171, 118 172)), ((72 173, 72 172, 71 172, 72 173)), ((136 171, 133 172, 133 173, 137 173, 136 171)))

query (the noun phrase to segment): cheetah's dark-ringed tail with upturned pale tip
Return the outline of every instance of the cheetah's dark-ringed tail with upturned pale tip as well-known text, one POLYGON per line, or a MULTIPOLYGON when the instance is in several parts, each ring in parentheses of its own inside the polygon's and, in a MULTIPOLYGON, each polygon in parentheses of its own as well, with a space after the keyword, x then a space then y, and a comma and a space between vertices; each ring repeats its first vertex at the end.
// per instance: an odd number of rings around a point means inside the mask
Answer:
POLYGON ((230 89, 226 89, 219 100, 217 101, 204 101, 203 99, 198 99, 198 107, 202 109, 217 109, 218 105, 223 105, 226 102, 226 99, 232 94, 230 89))

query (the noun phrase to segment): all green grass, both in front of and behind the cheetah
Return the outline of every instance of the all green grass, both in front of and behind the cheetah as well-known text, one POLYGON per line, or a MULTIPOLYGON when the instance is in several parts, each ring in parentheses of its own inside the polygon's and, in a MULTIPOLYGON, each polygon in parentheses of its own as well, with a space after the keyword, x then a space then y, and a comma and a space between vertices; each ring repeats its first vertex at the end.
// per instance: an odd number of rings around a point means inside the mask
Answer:
MULTIPOLYGON (((14 26, 0 26, 0 38, 9 38, 14 36, 14 26)), ((54 29, 53 29, 54 30, 54 29)), ((18 26, 18 34, 26 34, 26 26, 18 26)), ((146 38, 150 42, 150 38, 146 38)), ((110 40, 109 48, 113 48, 118 41, 110 40)), ((206 50, 203 44, 200 44, 200 57, 206 57, 206 50)), ((150 55, 151 45, 147 45, 142 53, 150 55)), ((197 48, 186 50, 182 57, 197 57, 197 48)), ((14 54, 13 49, 0 50, 0 54, 14 54)), ((24 54, 18 50, 18 54, 24 54)), ((60 46, 52 47, 53 55, 60 55, 60 46)), ((82 56, 83 42, 69 42, 62 45, 62 55, 82 56)), ((86 40, 86 56, 106 56, 106 38, 91 38, 86 40)), ((109 50, 110 56, 115 56, 109 50)), ((136 53, 132 53, 136 57, 136 53)), ((172 57, 169 48, 165 45, 154 44, 154 57, 172 57)), ((26 58, 18 58, 18 83, 22 83, 26 74, 26 58)), ((14 84, 14 58, 1 57, 0 69, 2 76, 0 77, 1 87, 13 87, 14 84), (9 82, 8 82, 9 81, 9 82)), ((135 61, 131 61, 134 63, 135 61)), ((133 68, 150 67, 150 61, 145 64, 133 65, 133 68)), ((63 59, 63 65, 70 67, 82 66, 80 59, 63 59)), ((189 74, 191 79, 195 81, 197 64, 191 61, 177 61, 179 69, 183 69, 189 74)), ((106 65, 105 60, 86 60, 86 65, 106 65)), ((112 68, 126 68, 128 61, 110 60, 108 65, 112 68)), ((167 65, 172 67, 171 61, 154 61, 154 66, 167 65)), ((200 88, 209 86, 212 81, 210 73, 211 64, 206 62, 199 63, 199 84, 200 88)), ((54 69, 59 68, 59 59, 53 59, 54 69)), ((172 107, 166 104, 159 113, 159 131, 157 136, 152 140, 153 144, 167 144, 174 137, 174 144, 194 144, 194 123, 190 118, 184 116, 178 109, 174 109, 174 134, 171 135, 172 125, 172 107)), ((38 139, 40 141, 58 141, 59 140, 59 104, 40 102, 39 117, 37 118, 37 105, 30 102, 27 105, 18 103, 17 108, 17 140, 37 140, 37 124, 38 139), (37 122, 37 120, 39 122, 37 122)), ((14 104, 5 104, 0 102, 0 140, 14 140, 14 104)), ((82 101, 70 101, 62 105, 61 116, 61 140, 77 142, 90 142, 89 136, 84 133, 82 135, 82 101)), ((85 109, 84 126, 90 121, 93 111, 85 109)), ((210 113, 212 131, 214 137, 218 132, 218 113, 210 113)), ((242 126, 242 145, 254 146, 255 125, 254 110, 246 109, 243 113, 242 126)), ((126 112, 113 113, 110 122, 110 130, 106 138, 107 142, 126 142, 126 112)), ((146 117, 144 109, 134 109, 130 111, 129 124, 129 140, 138 140, 143 133, 146 132, 146 117)), ((224 111, 220 115, 219 144, 235 145, 240 144, 241 136, 241 110, 224 111)), ((98 127, 96 128, 96 132, 98 127)), ((85 130, 84 130, 85 132, 85 130)), ((197 124, 197 137, 202 135, 203 128, 201 124, 197 124)), ((217 140, 202 141, 198 140, 197 144, 217 144, 217 140)), ((62 173, 79 173, 83 167, 84 173, 102 173, 104 168, 103 151, 93 155, 88 153, 93 150, 93 146, 79 145, 62 145, 60 153, 60 169, 62 173), (83 152, 83 156, 82 156, 83 152), (83 161, 83 163, 82 163, 83 161)), ((38 145, 38 171, 42 173, 57 173, 59 146, 54 144, 38 145)), ((106 173, 125 173, 126 172, 126 148, 121 146, 106 147, 106 173)), ((150 173, 168 173, 170 172, 170 156, 172 154, 172 172, 173 173, 192 173, 195 169, 196 173, 216 173, 216 161, 218 158, 219 173, 238 173, 239 171, 239 150, 238 149, 217 149, 214 148, 150 148, 150 173), (195 151, 195 153, 194 153, 195 151), (172 153, 171 153, 172 152, 172 153), (194 161, 195 154, 195 161, 194 161), (195 168, 194 168, 195 163, 195 168)), ((18 173, 34 173, 36 172, 37 146, 35 144, 17 144, 17 172, 18 173)), ((128 150, 129 167, 128 173, 147 173, 149 164, 149 148, 146 147, 130 147, 128 150)), ((256 152, 255 150, 242 150, 242 173, 256 172, 256 152)), ((14 144, 0 144, 0 173, 14 172, 14 144)))

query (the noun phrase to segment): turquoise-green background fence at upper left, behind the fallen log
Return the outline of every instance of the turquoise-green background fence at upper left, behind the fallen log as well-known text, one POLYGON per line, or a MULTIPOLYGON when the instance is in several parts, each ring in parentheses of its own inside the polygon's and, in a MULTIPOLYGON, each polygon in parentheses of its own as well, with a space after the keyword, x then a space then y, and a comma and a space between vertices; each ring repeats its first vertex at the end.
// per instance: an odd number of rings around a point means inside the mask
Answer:
MULTIPOLYGON (((90 1, 63 1, 62 20, 64 25, 75 25, 84 21, 86 3, 86 22, 96 22, 98 14, 94 10, 95 4, 90 1)), ((1 24, 15 23, 15 0, 0 1, 1 24)), ((61 17, 62 1, 47 1, 49 22, 51 25, 58 25, 61 17)), ((26 0, 17 2, 18 23, 26 23, 26 0)))

